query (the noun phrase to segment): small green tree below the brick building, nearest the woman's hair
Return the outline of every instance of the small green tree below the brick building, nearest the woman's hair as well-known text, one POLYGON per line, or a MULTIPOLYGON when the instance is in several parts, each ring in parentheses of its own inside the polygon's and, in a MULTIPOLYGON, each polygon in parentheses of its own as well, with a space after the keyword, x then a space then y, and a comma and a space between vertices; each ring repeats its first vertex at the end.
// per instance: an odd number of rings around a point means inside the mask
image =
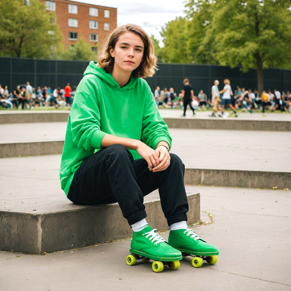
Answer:
MULTIPOLYGON (((95 47, 97 51, 98 46, 96 45, 95 47)), ((92 51, 91 45, 81 38, 74 46, 69 46, 60 58, 63 60, 95 61, 97 59, 97 54, 92 51)))

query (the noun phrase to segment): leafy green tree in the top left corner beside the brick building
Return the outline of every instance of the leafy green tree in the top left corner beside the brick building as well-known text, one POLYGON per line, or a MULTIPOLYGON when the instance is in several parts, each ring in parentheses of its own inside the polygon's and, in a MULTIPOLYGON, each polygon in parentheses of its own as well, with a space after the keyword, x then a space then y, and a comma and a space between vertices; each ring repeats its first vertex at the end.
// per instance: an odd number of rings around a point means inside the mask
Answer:
POLYGON ((51 58, 61 47, 62 34, 49 23, 46 7, 39 0, 0 1, 0 56, 51 58))

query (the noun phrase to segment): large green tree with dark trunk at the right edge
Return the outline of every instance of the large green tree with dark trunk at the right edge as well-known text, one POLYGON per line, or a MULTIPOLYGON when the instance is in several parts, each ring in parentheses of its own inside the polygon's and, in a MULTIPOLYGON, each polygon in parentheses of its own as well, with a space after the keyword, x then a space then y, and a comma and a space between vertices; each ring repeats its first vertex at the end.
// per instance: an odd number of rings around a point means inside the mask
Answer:
POLYGON ((291 68, 291 0, 192 0, 188 4, 194 7, 193 19, 203 13, 196 8, 206 2, 212 19, 197 48, 198 55, 204 51, 220 65, 242 66, 243 72, 255 69, 259 93, 263 69, 291 68))

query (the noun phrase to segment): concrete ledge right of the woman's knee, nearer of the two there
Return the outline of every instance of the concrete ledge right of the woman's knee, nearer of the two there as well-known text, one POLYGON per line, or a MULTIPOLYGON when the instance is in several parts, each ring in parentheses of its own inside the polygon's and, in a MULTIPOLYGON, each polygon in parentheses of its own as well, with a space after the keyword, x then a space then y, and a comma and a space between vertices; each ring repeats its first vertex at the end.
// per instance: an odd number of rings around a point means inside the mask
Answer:
POLYGON ((290 172, 186 169, 185 184, 207 186, 291 189, 290 172))

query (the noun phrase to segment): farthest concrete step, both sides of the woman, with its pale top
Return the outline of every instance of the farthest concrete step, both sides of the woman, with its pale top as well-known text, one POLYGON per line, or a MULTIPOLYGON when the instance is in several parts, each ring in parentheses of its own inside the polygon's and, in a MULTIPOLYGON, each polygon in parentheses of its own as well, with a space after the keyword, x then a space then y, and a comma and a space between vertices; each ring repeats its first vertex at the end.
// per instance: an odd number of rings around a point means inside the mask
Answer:
MULTIPOLYGON (((168 127, 189 129, 243 129, 243 130, 274 130, 290 131, 291 114, 278 113, 240 113, 238 118, 212 118, 210 111, 197 112, 195 117, 181 117, 182 110, 159 109, 168 127)), ((66 122, 68 110, 56 111, 4 111, 0 112, 0 124, 35 123, 35 122, 66 122)))

